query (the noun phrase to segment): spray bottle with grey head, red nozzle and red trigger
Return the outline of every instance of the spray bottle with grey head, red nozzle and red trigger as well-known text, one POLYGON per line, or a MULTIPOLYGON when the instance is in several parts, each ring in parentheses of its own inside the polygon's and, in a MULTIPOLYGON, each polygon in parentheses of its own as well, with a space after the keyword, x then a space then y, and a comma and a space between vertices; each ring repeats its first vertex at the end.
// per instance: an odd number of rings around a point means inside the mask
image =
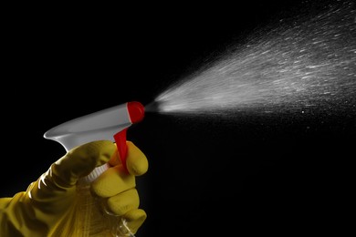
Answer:
MULTIPOLYGON (((143 117, 144 107, 140 102, 131 101, 69 120, 49 129, 44 137, 58 141, 66 151, 94 140, 112 140, 116 142, 121 163, 128 172, 126 132, 132 124, 140 122, 143 117)), ((109 164, 97 167, 78 181, 79 211, 76 230, 79 230, 82 236, 134 236, 125 220, 101 208, 99 200, 90 194, 90 182, 108 168, 109 164)))

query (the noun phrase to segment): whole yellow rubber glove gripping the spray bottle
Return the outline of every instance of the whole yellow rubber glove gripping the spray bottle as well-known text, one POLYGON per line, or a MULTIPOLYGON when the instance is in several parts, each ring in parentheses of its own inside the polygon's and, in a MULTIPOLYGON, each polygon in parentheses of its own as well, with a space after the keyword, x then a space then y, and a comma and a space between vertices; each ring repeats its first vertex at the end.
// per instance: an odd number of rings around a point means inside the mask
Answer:
POLYGON ((68 151, 27 191, 0 199, 0 236, 79 236, 74 225, 79 206, 77 181, 108 161, 110 169, 91 183, 91 191, 106 198, 109 210, 125 218, 136 233, 146 212, 139 209, 135 176, 148 170, 148 161, 133 143, 128 141, 127 145, 130 174, 123 171, 114 143, 93 141, 68 151))

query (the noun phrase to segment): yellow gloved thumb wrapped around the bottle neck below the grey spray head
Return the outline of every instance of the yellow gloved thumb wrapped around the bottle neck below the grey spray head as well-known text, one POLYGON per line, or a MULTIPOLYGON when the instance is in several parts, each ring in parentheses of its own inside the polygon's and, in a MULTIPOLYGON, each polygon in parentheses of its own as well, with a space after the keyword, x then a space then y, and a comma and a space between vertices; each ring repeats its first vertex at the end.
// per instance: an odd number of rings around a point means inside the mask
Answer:
POLYGON ((108 162, 115 150, 110 140, 92 141, 71 149, 51 166, 53 177, 59 185, 75 185, 80 177, 108 162))

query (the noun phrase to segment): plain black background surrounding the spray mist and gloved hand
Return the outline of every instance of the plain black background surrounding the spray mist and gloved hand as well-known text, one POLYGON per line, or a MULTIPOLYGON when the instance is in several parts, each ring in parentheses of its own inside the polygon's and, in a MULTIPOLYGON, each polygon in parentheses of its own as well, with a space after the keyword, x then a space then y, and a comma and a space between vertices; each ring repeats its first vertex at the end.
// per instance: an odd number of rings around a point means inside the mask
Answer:
MULTIPOLYGON (((126 101, 146 105, 255 28, 318 12, 314 3, 12 7, 3 29, 1 195, 25 191, 64 155, 43 138, 47 129, 126 101)), ((354 118, 147 113, 128 133, 150 162, 137 180, 148 213, 138 236, 343 229, 354 118)))

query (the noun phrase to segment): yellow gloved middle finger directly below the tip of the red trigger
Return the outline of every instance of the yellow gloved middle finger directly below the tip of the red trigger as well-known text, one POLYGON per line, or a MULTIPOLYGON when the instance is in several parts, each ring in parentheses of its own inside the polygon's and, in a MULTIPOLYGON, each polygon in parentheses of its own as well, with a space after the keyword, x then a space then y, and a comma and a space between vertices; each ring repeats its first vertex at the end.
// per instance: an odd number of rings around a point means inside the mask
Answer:
POLYGON ((128 175, 123 167, 118 165, 105 170, 91 184, 91 190, 102 198, 109 198, 136 186, 135 176, 128 175))

